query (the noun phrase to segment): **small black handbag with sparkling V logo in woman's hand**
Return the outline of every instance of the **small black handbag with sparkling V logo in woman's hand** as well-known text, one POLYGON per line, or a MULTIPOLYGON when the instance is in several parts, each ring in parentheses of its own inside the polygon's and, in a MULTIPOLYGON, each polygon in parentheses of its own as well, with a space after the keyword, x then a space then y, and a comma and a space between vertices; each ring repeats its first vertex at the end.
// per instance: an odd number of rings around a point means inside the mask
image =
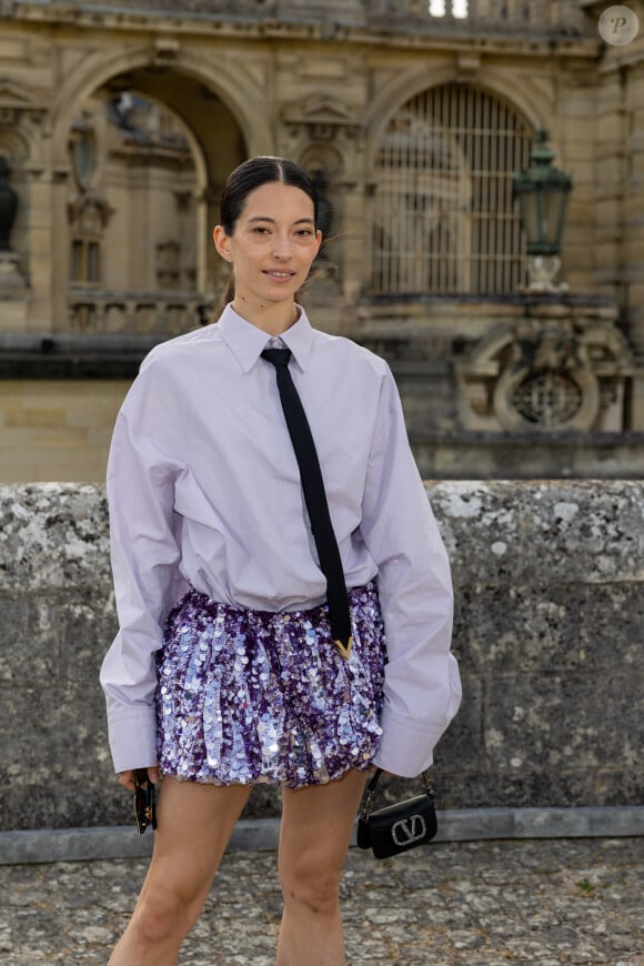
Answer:
POLYGON ((355 842, 360 848, 372 848, 376 858, 389 858, 430 842, 439 831, 434 792, 427 772, 423 772, 425 794, 416 795, 372 812, 376 785, 382 775, 379 768, 366 786, 364 807, 358 819, 355 842))

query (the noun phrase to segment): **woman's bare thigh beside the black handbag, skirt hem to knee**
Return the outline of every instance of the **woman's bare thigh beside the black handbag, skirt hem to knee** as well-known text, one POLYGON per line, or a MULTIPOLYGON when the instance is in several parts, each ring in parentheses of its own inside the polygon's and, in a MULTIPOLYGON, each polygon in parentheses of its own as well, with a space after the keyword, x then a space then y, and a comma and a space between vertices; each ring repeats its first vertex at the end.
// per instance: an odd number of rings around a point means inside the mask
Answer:
POLYGON ((351 769, 326 785, 284 788, 280 835, 282 885, 339 882, 368 775, 351 769))

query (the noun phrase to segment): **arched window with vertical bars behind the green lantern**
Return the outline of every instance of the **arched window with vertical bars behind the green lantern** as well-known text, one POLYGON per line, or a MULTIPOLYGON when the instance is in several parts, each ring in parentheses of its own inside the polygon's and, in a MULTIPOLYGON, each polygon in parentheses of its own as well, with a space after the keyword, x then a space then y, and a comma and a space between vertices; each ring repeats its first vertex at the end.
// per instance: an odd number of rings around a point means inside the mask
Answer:
POLYGON ((516 291, 512 173, 531 145, 523 118, 477 88, 445 84, 407 101, 376 154, 373 294, 516 291))

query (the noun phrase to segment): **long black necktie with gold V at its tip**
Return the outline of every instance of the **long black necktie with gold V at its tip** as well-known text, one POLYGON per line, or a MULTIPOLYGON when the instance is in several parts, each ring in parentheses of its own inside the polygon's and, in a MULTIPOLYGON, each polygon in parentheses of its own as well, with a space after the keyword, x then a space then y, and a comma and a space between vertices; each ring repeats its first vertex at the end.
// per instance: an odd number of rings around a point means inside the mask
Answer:
POLYGON ((326 577, 326 601, 333 643, 343 657, 349 657, 353 638, 351 636, 351 617, 344 571, 329 514, 315 443, 311 435, 311 427, 302 401, 289 372, 290 358, 290 349, 264 349, 262 352, 262 359, 272 362, 275 366, 278 391, 300 467, 302 490, 304 491, 313 540, 320 557, 320 567, 326 577))

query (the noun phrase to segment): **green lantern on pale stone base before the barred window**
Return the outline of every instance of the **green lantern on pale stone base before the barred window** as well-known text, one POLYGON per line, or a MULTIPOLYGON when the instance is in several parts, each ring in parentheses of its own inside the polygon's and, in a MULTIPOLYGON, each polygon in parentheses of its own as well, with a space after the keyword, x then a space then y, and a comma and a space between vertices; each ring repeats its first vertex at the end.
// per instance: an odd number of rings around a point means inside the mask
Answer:
POLYGON ((561 237, 573 182, 570 174, 553 167, 549 140, 547 131, 536 131, 529 167, 512 175, 512 192, 527 238, 529 292, 561 292, 567 288, 554 279, 561 268, 561 237))

